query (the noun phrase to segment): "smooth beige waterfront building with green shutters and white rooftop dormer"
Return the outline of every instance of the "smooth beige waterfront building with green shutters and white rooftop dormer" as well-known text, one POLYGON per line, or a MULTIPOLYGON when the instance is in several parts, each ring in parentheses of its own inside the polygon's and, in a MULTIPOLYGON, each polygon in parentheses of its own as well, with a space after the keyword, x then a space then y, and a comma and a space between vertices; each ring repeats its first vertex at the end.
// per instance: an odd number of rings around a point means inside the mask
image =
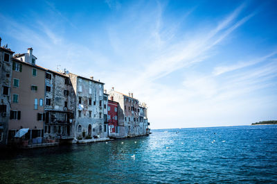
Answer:
POLYGON ((43 136, 46 69, 36 65, 33 49, 12 58, 11 108, 8 140, 21 128, 29 128, 25 140, 43 136))

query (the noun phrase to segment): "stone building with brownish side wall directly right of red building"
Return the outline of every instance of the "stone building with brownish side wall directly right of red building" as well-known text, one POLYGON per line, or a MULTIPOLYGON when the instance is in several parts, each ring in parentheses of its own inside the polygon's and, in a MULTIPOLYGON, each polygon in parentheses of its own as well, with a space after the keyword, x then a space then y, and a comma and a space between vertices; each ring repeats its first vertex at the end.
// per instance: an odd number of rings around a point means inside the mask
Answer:
POLYGON ((139 100, 129 95, 116 92, 114 88, 109 96, 118 102, 118 137, 135 137, 139 133, 139 100))

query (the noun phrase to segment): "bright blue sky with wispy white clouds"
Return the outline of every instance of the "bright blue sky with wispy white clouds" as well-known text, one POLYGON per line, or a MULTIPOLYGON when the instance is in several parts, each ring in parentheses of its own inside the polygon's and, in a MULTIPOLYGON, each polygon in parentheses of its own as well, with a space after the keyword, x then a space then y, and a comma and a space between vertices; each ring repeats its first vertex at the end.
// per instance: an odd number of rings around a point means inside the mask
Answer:
POLYGON ((148 106, 150 128, 277 119, 277 1, 0 3, 2 45, 148 106))

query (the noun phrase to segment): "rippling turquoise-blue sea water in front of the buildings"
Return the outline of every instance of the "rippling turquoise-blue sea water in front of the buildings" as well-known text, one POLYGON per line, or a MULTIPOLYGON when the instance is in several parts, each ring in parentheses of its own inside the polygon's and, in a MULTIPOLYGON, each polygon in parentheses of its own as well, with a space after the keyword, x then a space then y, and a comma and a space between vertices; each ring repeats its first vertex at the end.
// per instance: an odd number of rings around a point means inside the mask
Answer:
POLYGON ((277 183, 277 126, 153 130, 0 156, 0 183, 277 183))

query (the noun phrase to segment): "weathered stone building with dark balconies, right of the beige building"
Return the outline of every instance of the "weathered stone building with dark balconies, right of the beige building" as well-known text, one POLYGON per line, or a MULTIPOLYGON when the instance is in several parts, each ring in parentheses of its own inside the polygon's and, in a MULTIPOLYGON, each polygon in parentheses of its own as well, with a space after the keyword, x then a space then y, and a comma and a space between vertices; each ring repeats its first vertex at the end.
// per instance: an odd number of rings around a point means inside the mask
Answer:
POLYGON ((48 69, 45 75, 44 137, 72 140, 75 109, 76 95, 69 76, 48 69))

